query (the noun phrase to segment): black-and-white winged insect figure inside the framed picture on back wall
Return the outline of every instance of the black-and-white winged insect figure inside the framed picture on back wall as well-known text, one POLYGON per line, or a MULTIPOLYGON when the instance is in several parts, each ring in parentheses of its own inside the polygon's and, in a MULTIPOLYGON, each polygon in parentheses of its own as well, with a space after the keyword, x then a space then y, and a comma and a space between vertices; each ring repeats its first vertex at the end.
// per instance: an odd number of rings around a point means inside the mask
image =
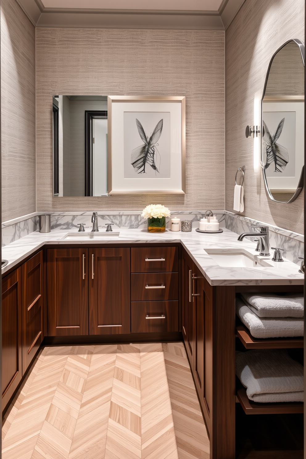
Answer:
POLYGON ((138 146, 137 148, 134 148, 134 150, 132 151, 131 164, 134 167, 134 171, 137 174, 145 174, 146 165, 150 166, 153 170, 155 170, 155 172, 159 173, 159 166, 156 164, 157 158, 159 157, 159 153, 156 148, 156 143, 161 136, 162 123, 163 119, 161 119, 156 124, 154 131, 149 137, 145 134, 145 130, 142 127, 142 124, 136 118, 137 129, 141 140, 144 142, 142 145, 138 146))

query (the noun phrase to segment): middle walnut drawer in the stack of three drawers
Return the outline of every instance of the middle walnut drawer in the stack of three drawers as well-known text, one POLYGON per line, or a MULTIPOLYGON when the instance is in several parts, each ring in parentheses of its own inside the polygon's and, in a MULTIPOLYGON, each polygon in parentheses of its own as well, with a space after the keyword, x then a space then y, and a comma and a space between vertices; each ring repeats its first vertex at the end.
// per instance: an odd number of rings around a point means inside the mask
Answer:
POLYGON ((131 301, 178 300, 178 273, 131 274, 131 301))

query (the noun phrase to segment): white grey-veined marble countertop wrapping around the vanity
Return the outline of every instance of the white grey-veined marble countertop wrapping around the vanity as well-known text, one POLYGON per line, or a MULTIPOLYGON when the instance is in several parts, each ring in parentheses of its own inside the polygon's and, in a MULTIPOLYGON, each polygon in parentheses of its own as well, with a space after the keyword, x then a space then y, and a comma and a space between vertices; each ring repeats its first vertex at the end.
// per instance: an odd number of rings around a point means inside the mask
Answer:
MULTIPOLYGON (((77 230, 75 230, 77 233, 77 230)), ((102 232, 102 231, 101 231, 102 232)), ((259 257, 255 252, 256 244, 247 239, 239 242, 238 235, 223 228, 223 233, 202 234, 193 229, 190 233, 181 231, 165 233, 148 233, 146 229, 120 229, 119 236, 105 236, 103 240, 90 240, 88 238, 76 240, 63 239, 67 230, 54 229, 50 233, 35 231, 18 239, 7 246, 2 247, 2 259, 8 260, 8 264, 2 268, 2 274, 13 268, 17 263, 37 251, 45 245, 97 245, 97 244, 160 244, 178 243, 186 249, 200 271, 211 285, 302 285, 304 274, 298 272, 299 266, 284 259, 284 263, 276 263, 270 257, 259 257), (268 267, 238 268, 219 266, 206 252, 207 249, 245 249, 251 255, 264 259, 268 267)))

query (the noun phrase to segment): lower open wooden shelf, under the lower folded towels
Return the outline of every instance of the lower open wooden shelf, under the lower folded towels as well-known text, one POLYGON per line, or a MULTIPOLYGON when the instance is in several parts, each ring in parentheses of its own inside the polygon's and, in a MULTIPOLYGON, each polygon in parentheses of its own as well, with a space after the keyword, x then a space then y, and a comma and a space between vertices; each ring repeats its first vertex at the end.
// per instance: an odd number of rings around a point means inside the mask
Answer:
POLYGON ((296 414, 304 413, 304 403, 256 403, 248 398, 244 387, 237 391, 237 398, 245 414, 296 414))

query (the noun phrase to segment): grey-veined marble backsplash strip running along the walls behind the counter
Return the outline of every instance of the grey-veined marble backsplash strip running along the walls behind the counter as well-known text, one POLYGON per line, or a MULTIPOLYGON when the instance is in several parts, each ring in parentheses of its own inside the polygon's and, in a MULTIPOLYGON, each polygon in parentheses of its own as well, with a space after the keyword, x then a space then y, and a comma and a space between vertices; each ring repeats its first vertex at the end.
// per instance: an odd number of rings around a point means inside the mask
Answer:
MULTIPOLYGON (((233 212, 224 210, 212 210, 217 215, 221 228, 227 228, 236 234, 251 231, 252 225, 265 225, 270 230, 270 247, 284 249, 284 257, 294 263, 300 263, 299 257, 304 257, 304 235, 294 233, 288 229, 267 225, 264 222, 252 218, 243 217, 233 212)), ((192 221, 192 227, 198 228, 200 218, 205 216, 205 210, 193 211, 171 211, 171 216, 178 216, 182 220, 192 221)), ((35 212, 24 217, 16 218, 2 223, 2 247, 17 241, 23 236, 33 233, 39 229, 39 214, 35 212)), ((77 229, 78 224, 84 223, 86 229, 91 229, 90 212, 45 212, 51 214, 51 230, 54 229, 77 229)), ((114 211, 99 212, 98 226, 104 228, 107 223, 113 223, 115 229, 145 229, 147 219, 141 217, 141 211, 114 211)), ((166 227, 170 227, 170 219, 166 219, 166 227)), ((252 239, 250 239, 252 240, 252 239)), ((272 252, 272 251, 271 251, 272 252)))

